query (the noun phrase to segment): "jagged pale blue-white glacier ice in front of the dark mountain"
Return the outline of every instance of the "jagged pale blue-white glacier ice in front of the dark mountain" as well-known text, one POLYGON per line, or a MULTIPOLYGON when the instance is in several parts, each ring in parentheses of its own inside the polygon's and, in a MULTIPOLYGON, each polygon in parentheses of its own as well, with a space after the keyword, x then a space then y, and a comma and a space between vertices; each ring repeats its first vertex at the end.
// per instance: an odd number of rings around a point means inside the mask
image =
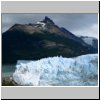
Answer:
POLYGON ((13 80, 22 86, 97 86, 98 54, 18 60, 13 80))

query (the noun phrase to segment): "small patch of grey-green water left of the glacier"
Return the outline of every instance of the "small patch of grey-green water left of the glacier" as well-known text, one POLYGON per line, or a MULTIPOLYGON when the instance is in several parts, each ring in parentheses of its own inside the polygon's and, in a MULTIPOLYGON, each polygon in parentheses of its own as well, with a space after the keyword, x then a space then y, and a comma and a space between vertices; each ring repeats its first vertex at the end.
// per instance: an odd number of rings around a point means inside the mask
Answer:
POLYGON ((15 72, 16 65, 2 65, 2 77, 9 77, 15 72))

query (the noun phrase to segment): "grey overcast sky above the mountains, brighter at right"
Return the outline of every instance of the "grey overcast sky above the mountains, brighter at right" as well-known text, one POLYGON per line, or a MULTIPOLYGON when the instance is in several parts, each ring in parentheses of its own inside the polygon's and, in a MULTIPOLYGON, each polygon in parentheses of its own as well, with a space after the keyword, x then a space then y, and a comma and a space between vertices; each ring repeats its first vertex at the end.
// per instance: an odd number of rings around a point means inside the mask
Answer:
POLYGON ((75 35, 98 38, 98 14, 2 14, 2 32, 16 23, 28 24, 42 21, 45 16, 75 35))

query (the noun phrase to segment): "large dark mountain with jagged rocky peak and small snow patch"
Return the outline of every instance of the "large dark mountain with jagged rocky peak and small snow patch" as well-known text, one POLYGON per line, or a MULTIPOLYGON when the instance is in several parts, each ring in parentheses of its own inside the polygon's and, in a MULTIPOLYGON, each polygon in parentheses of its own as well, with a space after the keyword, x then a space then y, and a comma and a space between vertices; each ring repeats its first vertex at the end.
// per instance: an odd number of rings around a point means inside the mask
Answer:
POLYGON ((35 24, 15 24, 2 34, 3 64, 53 56, 76 57, 94 53, 93 49, 47 16, 35 24))

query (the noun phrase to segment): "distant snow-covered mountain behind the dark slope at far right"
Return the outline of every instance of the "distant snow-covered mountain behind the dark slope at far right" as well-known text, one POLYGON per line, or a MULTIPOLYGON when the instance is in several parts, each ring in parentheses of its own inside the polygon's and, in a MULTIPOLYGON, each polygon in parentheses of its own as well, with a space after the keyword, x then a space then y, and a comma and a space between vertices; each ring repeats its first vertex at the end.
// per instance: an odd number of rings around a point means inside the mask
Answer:
POLYGON ((94 37, 88 37, 88 36, 81 36, 80 37, 85 43, 92 46, 95 50, 95 52, 98 52, 98 40, 94 37))

